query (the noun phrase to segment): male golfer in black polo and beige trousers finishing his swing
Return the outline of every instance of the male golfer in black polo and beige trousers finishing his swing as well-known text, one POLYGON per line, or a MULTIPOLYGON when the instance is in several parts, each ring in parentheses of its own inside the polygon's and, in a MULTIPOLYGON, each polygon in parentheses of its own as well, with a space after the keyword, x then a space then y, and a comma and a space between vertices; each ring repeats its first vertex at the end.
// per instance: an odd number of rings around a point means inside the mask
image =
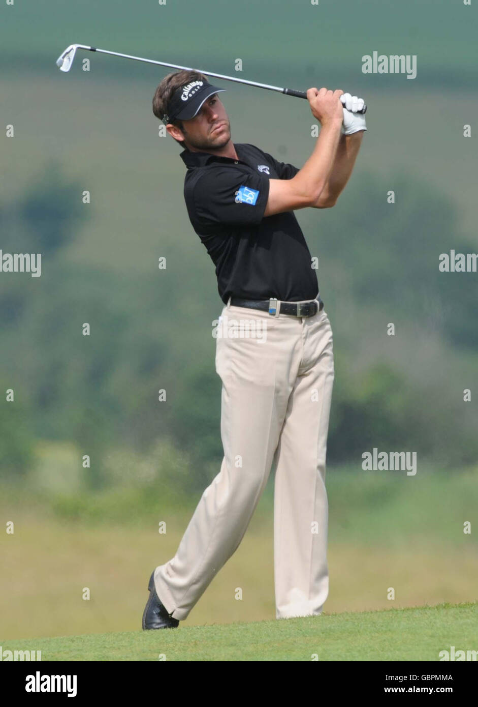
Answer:
POLYGON ((328 596, 333 337, 294 210, 335 206, 366 130, 357 112, 364 101, 309 88, 321 132, 299 169, 232 142, 223 90, 197 71, 179 71, 153 98, 155 116, 183 148, 186 207, 224 305, 215 358, 224 457, 177 553, 150 577, 143 629, 186 619, 239 547, 273 464, 276 618, 321 614, 328 596))

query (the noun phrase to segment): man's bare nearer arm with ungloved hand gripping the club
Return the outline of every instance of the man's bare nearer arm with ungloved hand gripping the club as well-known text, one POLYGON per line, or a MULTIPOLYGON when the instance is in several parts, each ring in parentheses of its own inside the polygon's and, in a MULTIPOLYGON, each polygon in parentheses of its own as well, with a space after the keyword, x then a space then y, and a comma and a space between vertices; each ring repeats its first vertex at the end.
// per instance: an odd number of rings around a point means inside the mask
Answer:
POLYGON ((328 184, 340 143, 343 120, 340 101, 342 93, 342 90, 331 91, 326 88, 321 88, 320 91, 309 88, 307 91, 312 113, 321 122, 321 132, 313 153, 297 175, 290 180, 270 180, 264 216, 315 206, 320 199, 328 184))

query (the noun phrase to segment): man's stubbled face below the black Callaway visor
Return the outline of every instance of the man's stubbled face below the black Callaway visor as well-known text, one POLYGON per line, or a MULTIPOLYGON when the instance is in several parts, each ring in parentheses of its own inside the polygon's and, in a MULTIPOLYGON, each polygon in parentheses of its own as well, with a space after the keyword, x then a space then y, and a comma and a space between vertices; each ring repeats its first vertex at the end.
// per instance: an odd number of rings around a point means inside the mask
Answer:
POLYGON ((197 115, 190 120, 182 120, 181 130, 171 126, 169 134, 176 139, 184 138, 184 144, 192 152, 213 151, 223 148, 231 139, 231 127, 222 101, 214 93, 203 105, 197 115))

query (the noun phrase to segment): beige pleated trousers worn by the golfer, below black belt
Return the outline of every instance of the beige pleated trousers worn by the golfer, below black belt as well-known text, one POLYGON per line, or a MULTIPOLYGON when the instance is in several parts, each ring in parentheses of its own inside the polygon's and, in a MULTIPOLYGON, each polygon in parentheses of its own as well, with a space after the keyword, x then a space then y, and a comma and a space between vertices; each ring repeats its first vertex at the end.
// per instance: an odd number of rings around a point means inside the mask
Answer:
POLYGON ((328 596, 325 452, 334 380, 328 316, 325 309, 292 317, 225 305, 218 327, 224 458, 176 555, 155 569, 157 595, 174 619, 186 619, 239 547, 274 462, 276 618, 321 614, 328 596))

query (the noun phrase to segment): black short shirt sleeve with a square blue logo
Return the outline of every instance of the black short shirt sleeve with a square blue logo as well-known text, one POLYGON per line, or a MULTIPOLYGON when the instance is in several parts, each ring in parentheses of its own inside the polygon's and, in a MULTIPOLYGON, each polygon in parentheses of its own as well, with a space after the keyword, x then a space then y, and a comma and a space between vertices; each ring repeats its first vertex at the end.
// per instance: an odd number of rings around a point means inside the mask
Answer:
POLYGON ((256 226, 268 197, 269 177, 235 165, 205 171, 193 189, 196 218, 204 226, 256 226))

